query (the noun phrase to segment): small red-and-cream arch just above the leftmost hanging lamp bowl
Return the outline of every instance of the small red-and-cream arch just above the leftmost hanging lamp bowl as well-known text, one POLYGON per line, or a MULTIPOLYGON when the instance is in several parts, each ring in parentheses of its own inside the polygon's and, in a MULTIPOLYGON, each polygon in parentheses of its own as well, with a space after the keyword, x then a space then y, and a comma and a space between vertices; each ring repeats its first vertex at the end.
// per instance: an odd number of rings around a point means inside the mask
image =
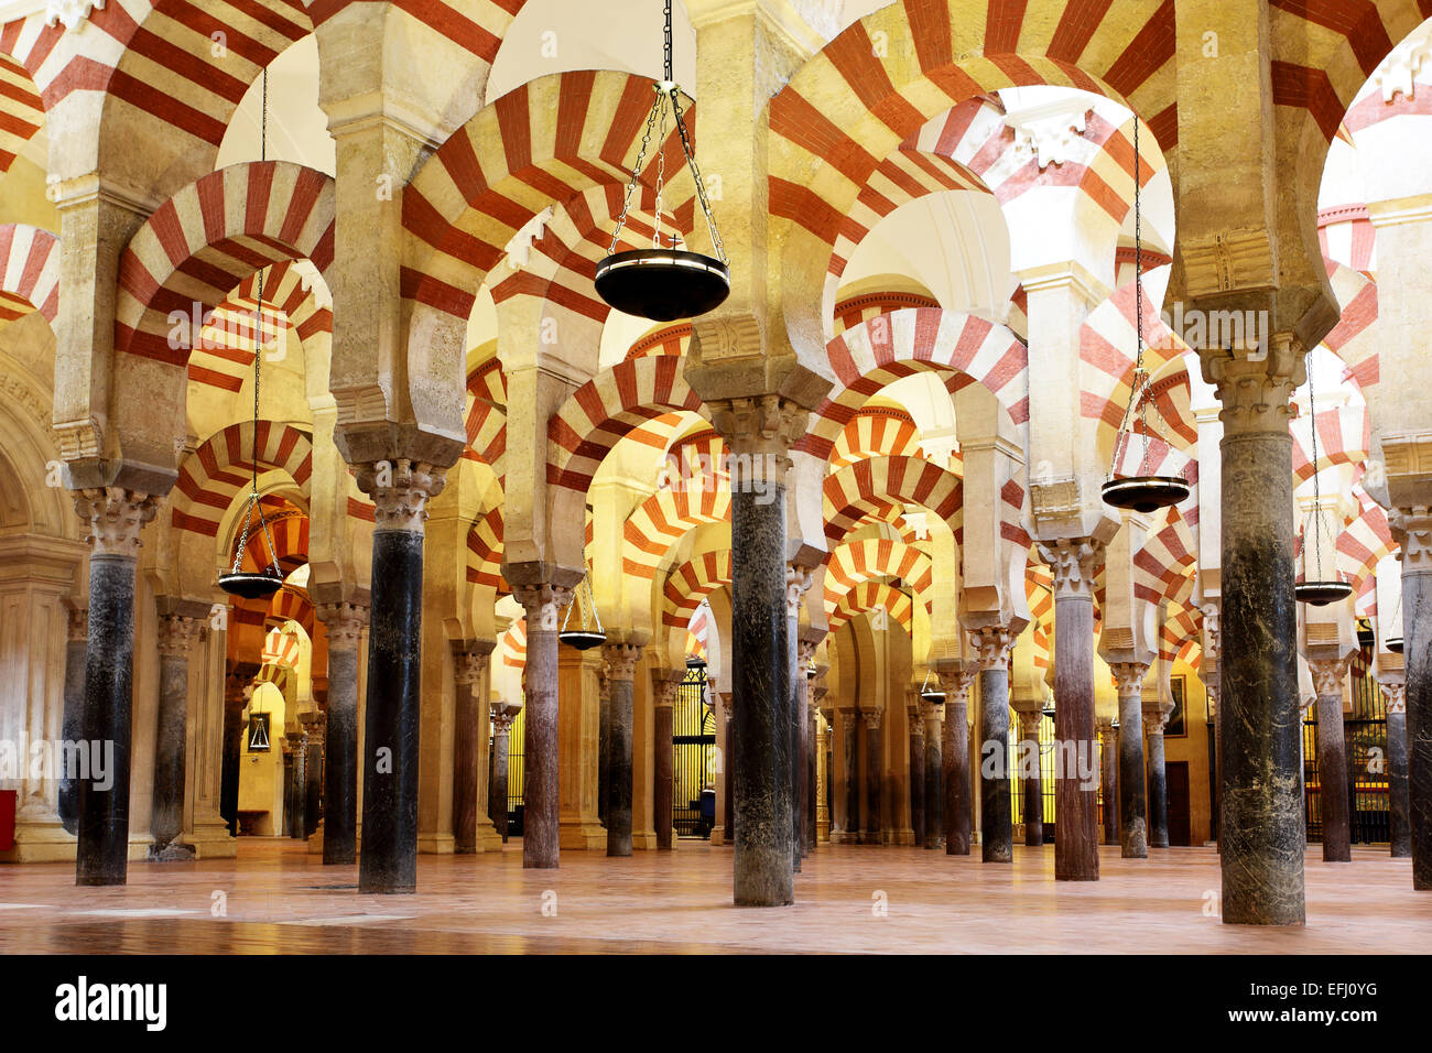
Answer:
POLYGON ((170 521, 180 530, 215 537, 235 497, 259 471, 284 471, 308 497, 314 447, 308 436, 289 424, 261 420, 231 424, 185 457, 175 483, 170 521), (256 456, 255 456, 256 451, 256 456))

